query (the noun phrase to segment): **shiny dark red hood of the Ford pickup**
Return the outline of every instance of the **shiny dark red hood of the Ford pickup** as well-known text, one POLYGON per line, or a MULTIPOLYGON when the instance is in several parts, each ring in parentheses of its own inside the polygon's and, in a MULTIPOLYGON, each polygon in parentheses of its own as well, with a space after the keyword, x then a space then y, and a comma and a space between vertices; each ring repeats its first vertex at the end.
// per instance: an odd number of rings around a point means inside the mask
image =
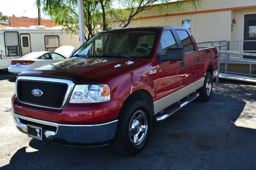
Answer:
POLYGON ((122 75, 145 65, 151 59, 81 59, 71 58, 42 65, 20 73, 18 76, 51 77, 70 79, 73 82, 106 83, 112 77, 122 75), (132 64, 126 64, 133 61, 132 64), (120 64, 120 67, 114 68, 120 64))

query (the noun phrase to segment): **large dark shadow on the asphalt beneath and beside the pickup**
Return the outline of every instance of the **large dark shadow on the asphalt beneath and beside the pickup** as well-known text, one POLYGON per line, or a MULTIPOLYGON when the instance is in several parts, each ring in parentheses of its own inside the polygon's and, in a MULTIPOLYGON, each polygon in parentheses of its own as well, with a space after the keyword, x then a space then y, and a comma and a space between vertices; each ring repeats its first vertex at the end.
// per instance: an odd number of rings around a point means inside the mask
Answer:
POLYGON ((2 168, 255 168, 256 130, 234 125, 245 105, 244 101, 218 91, 206 103, 192 102, 166 121, 156 123, 144 151, 133 157, 117 154, 108 146, 70 147, 32 139, 31 148, 17 150, 10 164, 2 168))

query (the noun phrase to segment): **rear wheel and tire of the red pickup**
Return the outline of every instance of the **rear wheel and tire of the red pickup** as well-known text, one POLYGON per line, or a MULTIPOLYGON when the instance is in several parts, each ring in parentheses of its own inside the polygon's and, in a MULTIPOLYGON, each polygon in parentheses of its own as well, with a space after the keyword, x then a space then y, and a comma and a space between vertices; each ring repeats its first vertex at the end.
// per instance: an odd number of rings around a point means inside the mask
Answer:
POLYGON ((199 101, 208 101, 212 96, 212 74, 207 72, 204 79, 204 85, 198 89, 200 96, 198 97, 199 101))

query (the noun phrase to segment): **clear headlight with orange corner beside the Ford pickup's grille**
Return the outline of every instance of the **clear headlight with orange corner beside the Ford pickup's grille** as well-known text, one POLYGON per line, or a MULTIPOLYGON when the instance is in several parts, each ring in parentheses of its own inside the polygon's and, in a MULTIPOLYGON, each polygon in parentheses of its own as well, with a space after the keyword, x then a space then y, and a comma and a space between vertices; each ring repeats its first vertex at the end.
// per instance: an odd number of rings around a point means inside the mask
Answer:
POLYGON ((110 101, 110 87, 100 85, 76 85, 69 103, 98 103, 110 101))

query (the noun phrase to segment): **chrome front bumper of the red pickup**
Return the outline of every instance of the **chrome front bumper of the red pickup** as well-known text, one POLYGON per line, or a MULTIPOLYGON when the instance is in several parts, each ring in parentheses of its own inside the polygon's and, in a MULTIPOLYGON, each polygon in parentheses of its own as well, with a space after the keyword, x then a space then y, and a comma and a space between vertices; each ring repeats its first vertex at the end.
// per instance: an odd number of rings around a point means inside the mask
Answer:
POLYGON ((34 123, 43 127, 43 139, 70 145, 106 143, 114 138, 118 123, 118 120, 115 120, 96 125, 66 125, 25 117, 13 111, 12 113, 14 123, 20 131, 27 133, 27 125, 22 122, 32 125, 34 123), (47 127, 56 130, 47 130, 47 127))

